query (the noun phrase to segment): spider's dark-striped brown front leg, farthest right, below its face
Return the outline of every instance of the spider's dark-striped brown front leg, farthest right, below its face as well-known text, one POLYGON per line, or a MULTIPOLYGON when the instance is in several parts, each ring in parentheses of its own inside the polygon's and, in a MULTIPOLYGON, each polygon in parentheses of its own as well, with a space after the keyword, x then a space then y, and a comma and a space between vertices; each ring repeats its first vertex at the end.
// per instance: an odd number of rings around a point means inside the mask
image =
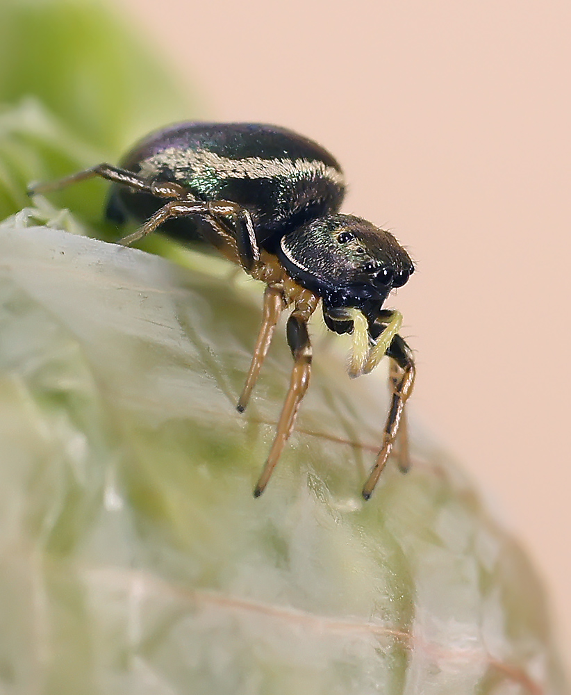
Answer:
MULTIPOLYGON (((398 334, 392 338, 392 341, 387 350, 387 356, 395 363, 396 377, 390 379, 392 387, 392 401, 388 417, 383 430, 383 443, 379 455, 376 457, 375 464, 370 473, 369 479, 363 486, 363 497, 368 500, 372 495, 374 487, 379 480, 383 468, 385 467, 388 455, 395 443, 399 425, 402 422, 404 414, 404 404, 411 395, 415 380, 415 363, 413 353, 410 347, 406 345, 404 340, 398 334)), ((408 450, 408 445, 407 445, 408 450)), ((401 455, 403 452, 401 452, 401 455)), ((408 454, 406 454, 408 458, 408 454)), ((405 461, 406 459, 402 459, 405 461)), ((402 466, 401 466, 402 468, 402 466)), ((405 466, 406 468, 406 466, 405 466)))

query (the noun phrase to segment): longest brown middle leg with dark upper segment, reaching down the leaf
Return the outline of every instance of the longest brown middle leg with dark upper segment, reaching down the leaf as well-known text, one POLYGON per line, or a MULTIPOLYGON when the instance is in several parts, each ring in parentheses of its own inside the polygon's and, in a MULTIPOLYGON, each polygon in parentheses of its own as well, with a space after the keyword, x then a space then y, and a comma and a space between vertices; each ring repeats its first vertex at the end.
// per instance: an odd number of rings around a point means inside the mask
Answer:
POLYGON ((276 436, 270 450, 270 455, 267 457, 265 466, 260 475, 260 479, 254 488, 254 497, 259 497, 265 490, 268 480, 276 467, 285 442, 293 430, 295 416, 301 404, 301 400, 307 391, 309 385, 309 377, 311 374, 311 342, 307 330, 307 320, 311 315, 311 310, 295 309, 288 320, 288 343, 292 350, 295 364, 293 366, 292 377, 290 381, 290 389, 285 397, 283 409, 276 427, 276 436))

